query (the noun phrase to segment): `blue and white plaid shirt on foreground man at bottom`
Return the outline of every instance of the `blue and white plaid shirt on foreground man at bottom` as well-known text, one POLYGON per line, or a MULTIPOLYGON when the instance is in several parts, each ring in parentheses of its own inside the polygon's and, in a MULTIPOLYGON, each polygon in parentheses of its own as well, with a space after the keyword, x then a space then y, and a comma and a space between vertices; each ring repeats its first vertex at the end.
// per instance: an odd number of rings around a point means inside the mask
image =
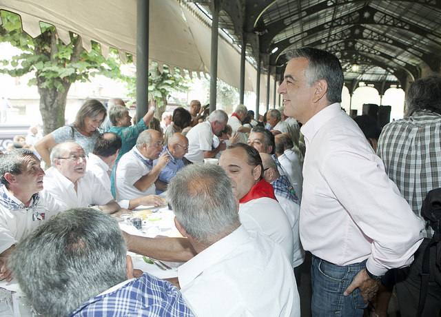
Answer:
POLYGON ((131 280, 108 294, 90 298, 70 317, 149 316, 192 317, 181 292, 171 283, 149 274, 131 280))

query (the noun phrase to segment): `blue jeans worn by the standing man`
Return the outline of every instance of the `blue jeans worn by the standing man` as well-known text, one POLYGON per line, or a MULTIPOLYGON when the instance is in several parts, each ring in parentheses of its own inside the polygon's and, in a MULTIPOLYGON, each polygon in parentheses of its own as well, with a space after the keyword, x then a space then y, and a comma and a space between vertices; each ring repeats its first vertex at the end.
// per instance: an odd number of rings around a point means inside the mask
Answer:
POLYGON ((365 267, 366 261, 338 266, 312 256, 312 316, 363 316, 363 309, 367 307, 367 303, 363 300, 360 289, 355 289, 349 296, 344 296, 343 292, 351 284, 354 276, 365 267))

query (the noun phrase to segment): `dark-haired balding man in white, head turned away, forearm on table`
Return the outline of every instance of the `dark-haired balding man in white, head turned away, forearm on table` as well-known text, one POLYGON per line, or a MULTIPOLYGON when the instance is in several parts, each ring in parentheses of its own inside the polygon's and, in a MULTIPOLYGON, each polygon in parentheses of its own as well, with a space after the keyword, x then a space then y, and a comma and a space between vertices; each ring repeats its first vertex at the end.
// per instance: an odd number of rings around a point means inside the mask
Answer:
MULTIPOLYGON (((112 170, 119 149, 121 149, 121 137, 113 132, 105 132, 96 139, 93 153, 88 155, 86 169, 101 181, 107 192, 110 192, 109 172, 112 170)), ((118 204, 125 209, 132 210, 139 205, 163 205, 164 201, 159 196, 147 195, 118 201, 118 204)))

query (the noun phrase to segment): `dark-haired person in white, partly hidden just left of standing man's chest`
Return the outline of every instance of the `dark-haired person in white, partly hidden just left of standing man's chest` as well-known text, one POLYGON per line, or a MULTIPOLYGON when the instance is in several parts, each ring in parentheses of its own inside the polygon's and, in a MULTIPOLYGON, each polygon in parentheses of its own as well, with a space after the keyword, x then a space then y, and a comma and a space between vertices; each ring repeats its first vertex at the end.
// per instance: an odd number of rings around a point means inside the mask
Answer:
POLYGON ((278 162, 286 172, 289 182, 296 191, 298 199, 302 201, 302 154, 300 150, 294 146, 294 143, 287 134, 277 134, 274 139, 276 141, 276 156, 278 162))

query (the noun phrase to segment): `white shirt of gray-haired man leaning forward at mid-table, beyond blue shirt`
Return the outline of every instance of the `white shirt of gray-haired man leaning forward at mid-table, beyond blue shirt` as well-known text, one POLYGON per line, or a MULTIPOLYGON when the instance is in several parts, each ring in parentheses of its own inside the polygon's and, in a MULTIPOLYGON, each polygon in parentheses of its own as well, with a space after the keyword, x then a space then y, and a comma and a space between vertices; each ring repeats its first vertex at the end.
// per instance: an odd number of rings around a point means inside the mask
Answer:
POLYGON ((204 151, 211 151, 213 144, 212 125, 209 121, 198 123, 187 133, 188 153, 185 159, 192 163, 203 163, 204 151))

